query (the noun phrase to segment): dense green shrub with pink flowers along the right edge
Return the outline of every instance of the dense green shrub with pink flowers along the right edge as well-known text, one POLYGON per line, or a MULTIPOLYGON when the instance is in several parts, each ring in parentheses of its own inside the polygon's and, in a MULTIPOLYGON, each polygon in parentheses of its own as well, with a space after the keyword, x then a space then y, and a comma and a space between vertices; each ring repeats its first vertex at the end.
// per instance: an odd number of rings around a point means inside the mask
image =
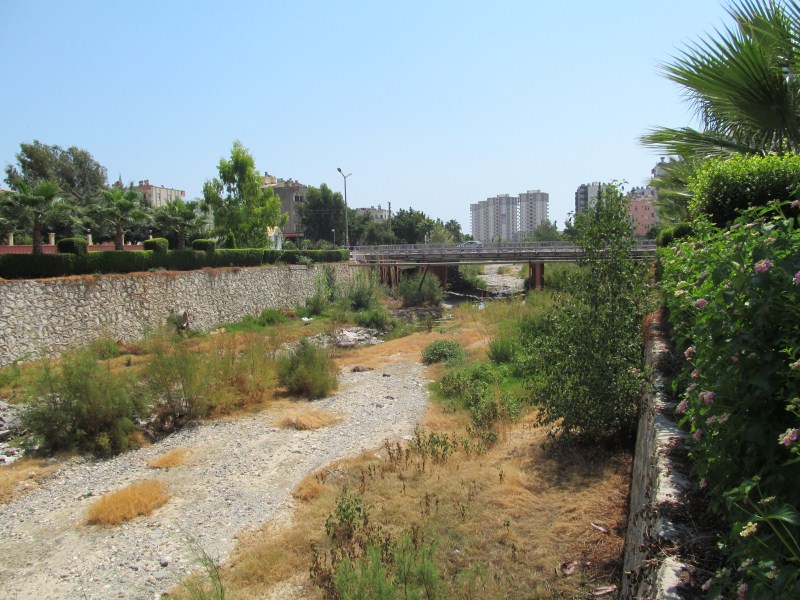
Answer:
POLYGON ((800 597, 800 231, 789 203, 730 229, 695 223, 662 249, 662 291, 685 363, 676 413, 728 567, 704 589, 800 597), (783 212, 782 212, 783 211, 783 212))

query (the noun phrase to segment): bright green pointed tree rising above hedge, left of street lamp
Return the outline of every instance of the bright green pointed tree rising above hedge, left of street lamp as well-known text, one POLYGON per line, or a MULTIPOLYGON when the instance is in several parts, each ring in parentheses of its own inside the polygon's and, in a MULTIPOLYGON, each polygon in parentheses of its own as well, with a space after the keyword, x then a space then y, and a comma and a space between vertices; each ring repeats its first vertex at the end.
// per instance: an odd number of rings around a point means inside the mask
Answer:
POLYGON ((217 170, 219 178, 203 185, 203 209, 214 216, 214 233, 231 248, 266 247, 268 230, 286 222, 280 199, 261 187, 255 160, 238 140, 230 160, 221 158, 217 170))

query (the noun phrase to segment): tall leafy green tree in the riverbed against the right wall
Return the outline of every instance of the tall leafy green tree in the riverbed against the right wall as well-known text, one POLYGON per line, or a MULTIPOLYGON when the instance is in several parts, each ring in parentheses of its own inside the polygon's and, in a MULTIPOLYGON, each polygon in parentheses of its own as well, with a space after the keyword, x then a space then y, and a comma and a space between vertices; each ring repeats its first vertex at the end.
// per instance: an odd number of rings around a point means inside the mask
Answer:
POLYGON ((583 269, 558 308, 525 332, 528 384, 541 423, 558 424, 565 439, 596 443, 635 429, 644 267, 631 258, 636 239, 615 187, 606 186, 567 231, 583 251, 583 269))

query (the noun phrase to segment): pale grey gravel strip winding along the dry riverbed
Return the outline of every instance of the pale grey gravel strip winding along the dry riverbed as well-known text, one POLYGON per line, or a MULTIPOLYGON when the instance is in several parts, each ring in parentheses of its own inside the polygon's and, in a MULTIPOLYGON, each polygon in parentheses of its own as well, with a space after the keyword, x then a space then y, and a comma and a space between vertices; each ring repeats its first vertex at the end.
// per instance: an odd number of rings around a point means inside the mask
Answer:
POLYGON ((157 598, 197 568, 188 540, 224 561, 239 532, 291 510, 303 477, 411 434, 427 397, 418 362, 389 362, 343 373, 336 395, 313 402, 344 419, 333 427, 279 429, 265 411, 187 427, 113 459, 70 460, 0 505, 0 596, 157 598), (147 467, 178 447, 190 449, 186 464, 147 467), (166 484, 165 506, 117 528, 85 524, 97 496, 144 479, 166 484))

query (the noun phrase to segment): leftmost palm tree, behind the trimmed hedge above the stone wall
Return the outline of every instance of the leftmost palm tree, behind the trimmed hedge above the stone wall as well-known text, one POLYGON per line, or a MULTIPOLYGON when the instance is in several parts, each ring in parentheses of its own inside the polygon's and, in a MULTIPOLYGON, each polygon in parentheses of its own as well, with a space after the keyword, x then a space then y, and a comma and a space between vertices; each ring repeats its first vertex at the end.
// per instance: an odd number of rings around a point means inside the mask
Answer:
POLYGON ((63 215, 69 207, 58 197, 58 184, 43 181, 31 185, 18 181, 17 190, 0 197, 3 220, 33 233, 33 253, 42 254, 42 227, 63 215))

